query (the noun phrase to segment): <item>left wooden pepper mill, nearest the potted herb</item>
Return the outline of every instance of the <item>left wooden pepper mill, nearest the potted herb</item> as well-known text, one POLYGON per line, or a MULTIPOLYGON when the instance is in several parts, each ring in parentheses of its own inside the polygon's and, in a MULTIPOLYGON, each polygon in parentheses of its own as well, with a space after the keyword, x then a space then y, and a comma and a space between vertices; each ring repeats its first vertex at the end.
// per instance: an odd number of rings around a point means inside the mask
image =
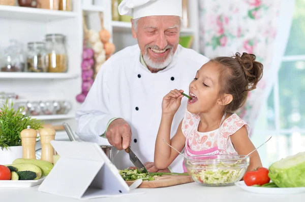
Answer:
POLYGON ((27 126, 20 133, 22 145, 22 158, 36 159, 36 138, 37 131, 27 126))

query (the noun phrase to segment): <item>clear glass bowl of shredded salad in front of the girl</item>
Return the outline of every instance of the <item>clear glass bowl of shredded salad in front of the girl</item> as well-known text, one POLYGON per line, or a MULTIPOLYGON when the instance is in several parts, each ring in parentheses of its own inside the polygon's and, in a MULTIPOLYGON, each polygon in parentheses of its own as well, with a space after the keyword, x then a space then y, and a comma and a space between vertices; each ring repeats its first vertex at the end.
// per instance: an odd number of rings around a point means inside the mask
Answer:
POLYGON ((234 185, 245 175, 249 163, 246 155, 196 155, 184 159, 189 175, 204 186, 234 185))

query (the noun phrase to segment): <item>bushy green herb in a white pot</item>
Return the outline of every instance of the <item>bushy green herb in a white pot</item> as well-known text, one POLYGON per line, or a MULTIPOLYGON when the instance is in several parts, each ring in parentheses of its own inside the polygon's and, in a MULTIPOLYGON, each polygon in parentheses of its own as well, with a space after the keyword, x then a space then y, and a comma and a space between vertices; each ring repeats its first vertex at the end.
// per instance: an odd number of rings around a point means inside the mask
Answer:
POLYGON ((22 114, 24 106, 17 110, 8 100, 0 108, 0 165, 11 164, 16 158, 22 158, 20 132, 30 126, 32 129, 42 128, 42 122, 27 114, 22 114))

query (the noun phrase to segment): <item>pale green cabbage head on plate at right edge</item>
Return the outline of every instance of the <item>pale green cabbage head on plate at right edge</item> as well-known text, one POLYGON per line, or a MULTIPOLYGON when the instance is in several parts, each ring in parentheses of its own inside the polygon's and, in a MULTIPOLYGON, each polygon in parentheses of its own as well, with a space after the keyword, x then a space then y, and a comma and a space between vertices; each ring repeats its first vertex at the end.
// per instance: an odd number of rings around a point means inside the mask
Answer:
POLYGON ((278 187, 305 187, 305 152, 271 164, 268 176, 278 187))

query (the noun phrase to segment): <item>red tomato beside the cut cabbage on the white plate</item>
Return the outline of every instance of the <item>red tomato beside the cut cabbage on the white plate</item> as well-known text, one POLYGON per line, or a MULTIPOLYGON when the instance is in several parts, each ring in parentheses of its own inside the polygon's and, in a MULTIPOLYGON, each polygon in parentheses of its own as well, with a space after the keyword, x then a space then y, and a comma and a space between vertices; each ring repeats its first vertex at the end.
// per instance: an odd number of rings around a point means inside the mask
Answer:
POLYGON ((249 171, 243 176, 243 181, 247 186, 264 185, 270 182, 268 177, 269 170, 266 168, 258 168, 254 171, 249 171))

